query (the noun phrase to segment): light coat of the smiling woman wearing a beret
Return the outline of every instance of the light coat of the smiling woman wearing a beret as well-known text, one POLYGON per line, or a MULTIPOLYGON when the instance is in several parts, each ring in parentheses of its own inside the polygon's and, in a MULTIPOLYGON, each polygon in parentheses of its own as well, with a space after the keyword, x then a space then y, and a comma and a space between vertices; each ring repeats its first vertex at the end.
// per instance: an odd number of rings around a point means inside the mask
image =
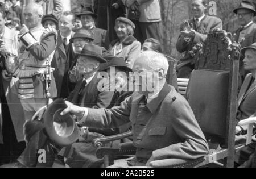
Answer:
POLYGON ((121 51, 113 53, 115 45, 119 42, 119 39, 112 41, 110 43, 109 52, 117 57, 123 57, 129 68, 133 68, 134 61, 137 59, 138 55, 141 53, 141 43, 137 41, 133 36, 128 36, 122 41, 123 47, 121 51))

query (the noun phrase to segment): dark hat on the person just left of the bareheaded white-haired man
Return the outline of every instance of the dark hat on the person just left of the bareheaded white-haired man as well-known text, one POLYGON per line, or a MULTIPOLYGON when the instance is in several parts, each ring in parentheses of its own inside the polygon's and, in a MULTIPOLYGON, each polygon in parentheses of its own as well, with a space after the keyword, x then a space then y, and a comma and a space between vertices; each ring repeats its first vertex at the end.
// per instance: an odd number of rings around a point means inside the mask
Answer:
POLYGON ((105 64, 100 65, 100 71, 105 71, 109 69, 110 67, 115 67, 118 69, 123 70, 124 72, 132 72, 133 70, 129 68, 125 62, 125 59, 122 57, 105 57, 105 59, 108 61, 105 64))

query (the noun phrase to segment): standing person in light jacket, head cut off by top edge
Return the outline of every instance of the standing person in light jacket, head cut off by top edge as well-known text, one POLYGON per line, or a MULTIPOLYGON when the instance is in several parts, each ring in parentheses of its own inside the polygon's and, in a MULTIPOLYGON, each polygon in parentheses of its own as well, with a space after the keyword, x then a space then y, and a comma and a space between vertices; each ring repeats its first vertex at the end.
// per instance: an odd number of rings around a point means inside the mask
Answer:
POLYGON ((129 8, 128 18, 133 20, 136 28, 135 38, 141 43, 147 38, 161 40, 160 27, 161 13, 158 0, 122 0, 129 8), (134 16, 134 14, 137 14, 134 16))

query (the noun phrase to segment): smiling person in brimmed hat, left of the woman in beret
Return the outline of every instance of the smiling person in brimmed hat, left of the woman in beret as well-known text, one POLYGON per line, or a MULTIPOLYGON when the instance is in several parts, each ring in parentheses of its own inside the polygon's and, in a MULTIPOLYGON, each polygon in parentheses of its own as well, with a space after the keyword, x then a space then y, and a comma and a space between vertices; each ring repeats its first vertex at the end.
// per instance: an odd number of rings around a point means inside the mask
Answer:
POLYGON ((91 7, 84 7, 77 17, 81 19, 82 28, 89 31, 93 36, 93 44, 101 47, 109 48, 108 32, 101 28, 96 28, 97 14, 94 14, 91 7))

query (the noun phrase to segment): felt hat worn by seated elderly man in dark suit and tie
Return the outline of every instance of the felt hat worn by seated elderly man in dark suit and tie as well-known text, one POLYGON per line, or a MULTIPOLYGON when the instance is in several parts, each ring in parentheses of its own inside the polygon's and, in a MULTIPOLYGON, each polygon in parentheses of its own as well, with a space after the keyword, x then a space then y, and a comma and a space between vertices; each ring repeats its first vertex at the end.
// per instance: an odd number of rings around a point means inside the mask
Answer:
POLYGON ((78 56, 93 57, 98 60, 100 63, 106 63, 106 60, 102 57, 102 48, 94 44, 85 44, 81 53, 77 54, 78 56))

